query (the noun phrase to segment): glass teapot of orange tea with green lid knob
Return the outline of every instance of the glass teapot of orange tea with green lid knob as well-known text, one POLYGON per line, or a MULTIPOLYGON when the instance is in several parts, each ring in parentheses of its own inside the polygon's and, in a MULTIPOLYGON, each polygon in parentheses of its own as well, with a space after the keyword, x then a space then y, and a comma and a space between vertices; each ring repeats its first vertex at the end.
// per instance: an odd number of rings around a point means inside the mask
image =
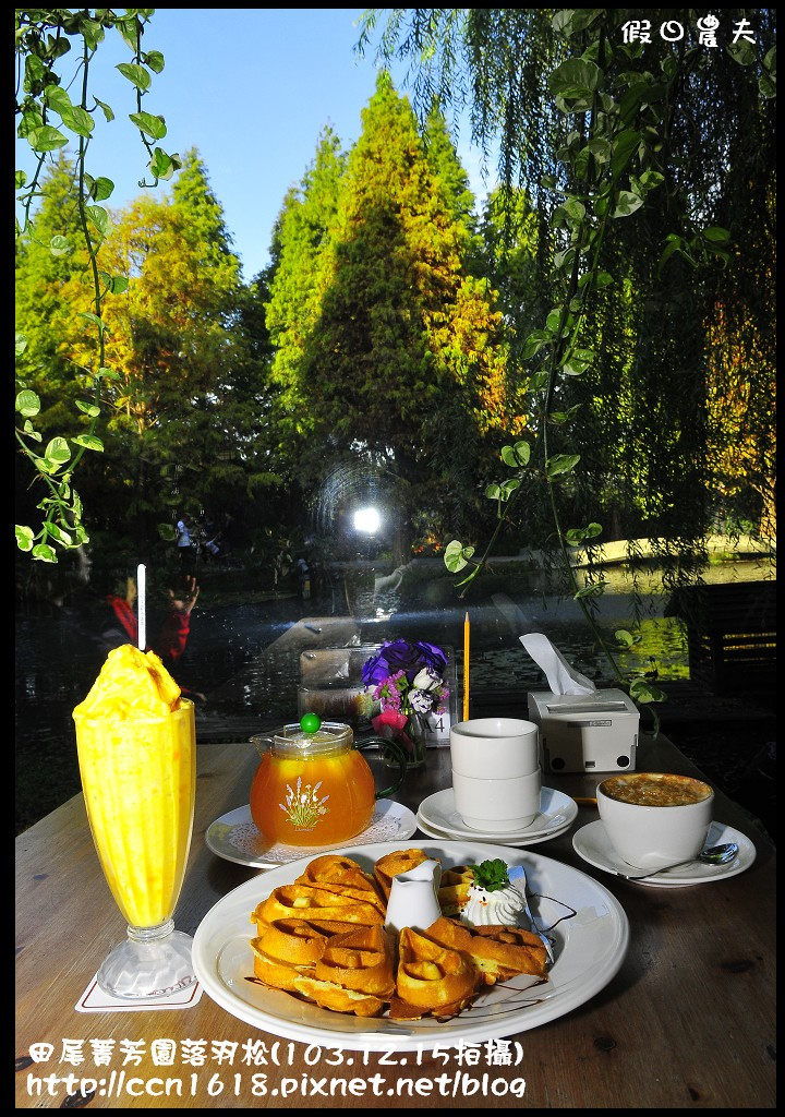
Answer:
POLYGON ((350 725, 323 723, 316 714, 250 739, 261 756, 251 783, 251 818, 270 842, 332 846, 356 837, 371 822, 376 800, 398 791, 406 772, 405 753, 395 742, 355 742, 350 725), (362 754, 376 746, 399 768, 382 791, 362 754))

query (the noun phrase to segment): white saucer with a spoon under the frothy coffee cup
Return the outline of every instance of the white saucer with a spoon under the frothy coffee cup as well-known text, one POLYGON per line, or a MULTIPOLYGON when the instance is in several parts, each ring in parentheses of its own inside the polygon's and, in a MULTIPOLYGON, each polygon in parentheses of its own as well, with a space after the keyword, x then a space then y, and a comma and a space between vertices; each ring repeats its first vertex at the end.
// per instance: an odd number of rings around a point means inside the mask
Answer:
MULTIPOLYGON (((728 865, 706 865, 696 861, 695 865, 682 865, 676 869, 661 869, 652 877, 630 881, 635 885, 651 885, 654 888, 687 888, 690 885, 707 885, 712 880, 726 880, 744 872, 755 860, 755 846, 740 830, 734 830, 724 822, 712 822, 707 846, 719 846, 720 842, 735 841, 739 851, 728 865)), ((614 876, 624 876, 633 869, 619 857, 607 837, 607 831, 601 819, 590 822, 573 836, 573 848, 584 861, 596 869, 604 869, 614 876)))

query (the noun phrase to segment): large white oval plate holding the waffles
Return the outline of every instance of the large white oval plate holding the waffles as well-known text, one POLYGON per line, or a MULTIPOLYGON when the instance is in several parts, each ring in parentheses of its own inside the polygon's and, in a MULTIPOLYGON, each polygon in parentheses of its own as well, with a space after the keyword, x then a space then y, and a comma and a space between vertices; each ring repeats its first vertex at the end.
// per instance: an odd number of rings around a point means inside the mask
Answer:
MULTIPOLYGON (((379 842, 346 853, 370 871, 379 858, 410 844, 379 842)), ((446 868, 499 856, 498 846, 473 842, 424 841, 420 848, 446 868)), ((274 888, 291 884, 309 860, 240 885, 208 911, 193 938, 193 964, 208 995, 238 1020, 284 1039, 352 1051, 417 1051, 513 1035, 584 1004, 615 976, 626 954, 628 919, 606 888, 572 866, 507 849, 508 865, 526 869, 533 914, 554 942, 556 961, 546 982, 533 986, 528 977, 488 986, 470 1009, 443 1023, 331 1012, 247 980, 253 974, 251 911, 274 888)))

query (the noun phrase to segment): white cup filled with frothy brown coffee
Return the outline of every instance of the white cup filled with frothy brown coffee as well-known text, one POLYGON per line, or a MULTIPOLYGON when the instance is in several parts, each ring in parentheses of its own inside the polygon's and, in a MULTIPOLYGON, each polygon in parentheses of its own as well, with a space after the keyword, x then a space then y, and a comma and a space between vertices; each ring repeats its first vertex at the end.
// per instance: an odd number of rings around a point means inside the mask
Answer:
POLYGON ((708 783, 661 772, 628 772, 597 785, 597 811, 619 857, 643 871, 700 853, 711 825, 708 783))

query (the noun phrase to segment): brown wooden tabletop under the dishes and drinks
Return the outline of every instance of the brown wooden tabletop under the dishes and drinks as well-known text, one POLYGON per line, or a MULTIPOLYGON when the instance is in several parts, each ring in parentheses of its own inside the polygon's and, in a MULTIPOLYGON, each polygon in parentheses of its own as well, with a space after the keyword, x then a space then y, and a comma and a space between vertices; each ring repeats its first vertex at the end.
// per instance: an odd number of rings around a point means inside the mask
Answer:
MULTIPOLYGON (((256 873, 204 843, 214 819, 248 802, 256 763, 249 745, 199 746, 193 842, 175 916, 181 930, 193 933, 218 899, 256 873)), ((643 739, 638 767, 696 774, 662 736, 643 739)), ((449 750, 430 750, 401 801, 415 810, 449 785, 449 750)), ((597 780, 562 775, 547 783, 578 796, 592 795, 597 780)), ((277 1049, 281 1066, 268 1058, 249 1067, 239 1060, 241 1044, 261 1040, 271 1056, 280 1038, 230 1015, 207 993, 179 1011, 75 1011, 123 930, 75 796, 17 839, 17 1108, 63 1107, 80 1078, 112 1080, 116 1090, 122 1071, 123 1096, 102 1096, 99 1087, 88 1108, 774 1108, 774 847, 717 792, 716 819, 755 841, 755 863, 725 882, 651 888, 595 870, 574 852, 574 831, 596 817, 595 808, 581 808, 571 831, 532 852, 575 866, 618 897, 630 920, 629 953, 587 1003, 510 1037, 511 1066, 487 1054, 471 1065, 457 1050, 427 1052, 420 1066, 384 1053, 336 1066, 329 1049, 286 1040, 277 1049), (179 1052, 172 1066, 153 1061, 151 1044, 161 1039, 179 1052), (108 1062, 96 1065, 95 1052, 111 1040, 108 1062), (188 1041, 199 1040, 204 1062, 184 1063, 188 1041), (232 1042, 238 1057, 221 1062, 218 1044, 226 1051, 232 1042), (48 1060, 40 1061, 48 1049, 36 1044, 51 1044, 48 1060), (331 1097, 336 1079, 353 1082, 354 1092, 331 1097)), ((418 832, 411 844, 418 839, 428 840, 418 832)))

